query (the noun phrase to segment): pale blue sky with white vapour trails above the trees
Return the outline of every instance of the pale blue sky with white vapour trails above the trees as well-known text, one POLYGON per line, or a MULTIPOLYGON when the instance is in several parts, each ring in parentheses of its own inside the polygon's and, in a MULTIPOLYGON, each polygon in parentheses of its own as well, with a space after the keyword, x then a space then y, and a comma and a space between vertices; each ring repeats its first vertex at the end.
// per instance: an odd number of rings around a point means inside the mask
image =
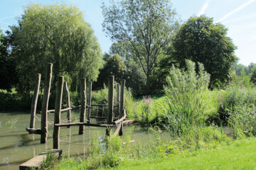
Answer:
MULTIPOLYGON (((0 0, 0 29, 9 30, 17 25, 28 4, 72 4, 80 8, 84 19, 90 23, 102 52, 109 52, 112 41, 102 31, 103 0, 0 0)), ((106 2, 108 0, 105 0, 106 2)), ((228 37, 233 40, 238 63, 248 65, 256 63, 256 0, 172 0, 173 8, 182 22, 190 16, 202 14, 213 18, 228 28, 228 37)))

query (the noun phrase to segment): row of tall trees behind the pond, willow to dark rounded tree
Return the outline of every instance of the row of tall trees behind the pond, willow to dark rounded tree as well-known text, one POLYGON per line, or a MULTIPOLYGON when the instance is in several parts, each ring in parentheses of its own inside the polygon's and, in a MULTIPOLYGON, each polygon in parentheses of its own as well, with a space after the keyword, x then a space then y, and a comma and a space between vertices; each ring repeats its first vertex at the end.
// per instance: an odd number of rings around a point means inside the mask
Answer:
MULTIPOLYGON (((169 0, 122 0, 102 4, 102 28, 112 40, 102 55, 90 24, 75 6, 31 4, 24 8, 17 26, 0 33, 0 89, 15 87, 29 94, 37 72, 53 62, 53 84, 62 74, 71 91, 79 78, 95 81, 95 89, 107 82, 127 79, 134 94, 159 94, 172 65, 202 63, 210 74, 210 87, 230 81, 238 61, 235 45, 221 23, 191 16, 181 23, 169 0)), ((44 75, 42 74, 42 78, 44 75)))

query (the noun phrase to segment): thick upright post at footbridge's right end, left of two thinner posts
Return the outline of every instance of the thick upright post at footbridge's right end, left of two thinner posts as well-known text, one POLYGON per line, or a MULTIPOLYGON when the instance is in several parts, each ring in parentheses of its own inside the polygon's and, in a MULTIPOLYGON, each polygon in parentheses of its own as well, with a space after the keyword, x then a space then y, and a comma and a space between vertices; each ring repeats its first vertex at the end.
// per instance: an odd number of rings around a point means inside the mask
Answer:
MULTIPOLYGON (((107 124, 112 125, 114 115, 114 76, 110 76, 108 79, 108 112, 107 112, 107 124)), ((106 135, 110 135, 111 128, 106 129, 106 135)))

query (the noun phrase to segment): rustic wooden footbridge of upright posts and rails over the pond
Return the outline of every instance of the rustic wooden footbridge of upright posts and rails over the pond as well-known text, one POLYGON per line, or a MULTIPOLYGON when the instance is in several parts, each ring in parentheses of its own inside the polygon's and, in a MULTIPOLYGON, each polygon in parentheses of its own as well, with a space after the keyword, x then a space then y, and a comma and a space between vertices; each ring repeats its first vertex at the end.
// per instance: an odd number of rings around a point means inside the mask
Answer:
MULTIPOLYGON (((108 103, 106 104, 92 104, 92 82, 90 82, 89 86, 89 95, 88 100, 86 100, 86 81, 85 79, 80 79, 80 98, 81 105, 80 106, 70 106, 70 93, 68 90, 67 82, 64 82, 64 77, 59 76, 57 80, 57 90, 55 95, 55 109, 48 110, 48 102, 50 96, 50 82, 52 77, 52 68, 53 64, 48 63, 46 69, 46 80, 44 84, 43 91, 43 103, 41 108, 41 129, 35 129, 35 118, 36 118, 36 106, 38 102, 38 91, 41 82, 41 74, 38 74, 36 77, 36 86, 33 94, 33 101, 31 104, 31 120, 29 128, 26 128, 26 131, 33 134, 41 135, 41 143, 46 143, 48 135, 48 114, 54 113, 54 123, 53 123, 53 150, 54 152, 60 153, 60 127, 70 127, 74 125, 79 126, 78 134, 82 135, 84 133, 85 126, 95 126, 106 128, 106 136, 110 135, 111 128, 116 128, 114 135, 122 135, 123 126, 134 123, 134 120, 126 120, 127 115, 124 110, 124 85, 125 80, 122 80, 121 89, 119 84, 116 86, 117 98, 116 105, 114 105, 114 77, 110 76, 108 79, 108 103), (66 105, 67 108, 62 108, 63 101, 63 89, 65 91, 66 96, 66 105), (88 104, 86 104, 88 101, 88 104), (80 108, 80 119, 79 122, 71 122, 71 111, 80 108), (102 110, 101 114, 91 115, 92 108, 97 108, 98 110, 102 110), (104 114, 104 109, 107 108, 107 116, 104 114), (87 111, 87 116, 86 116, 87 111), (60 120, 60 114, 63 112, 67 112, 67 121, 66 123, 62 123, 60 120), (107 120, 105 124, 100 123, 91 123, 91 118, 97 118, 102 120, 107 120)), ((51 136, 51 135, 50 135, 51 136)), ((44 156, 45 157, 45 156, 44 156)), ((34 158, 36 159, 36 157, 34 158)), ((38 162, 37 158, 35 162, 38 162)), ((31 159, 32 160, 32 159, 31 159)), ((20 169, 24 167, 27 169, 33 166, 33 161, 29 160, 24 164, 21 164, 20 169), (32 163, 31 163, 32 162, 32 163), (31 165, 32 164, 32 165, 31 165)), ((43 159, 42 159, 43 160, 43 159)), ((38 163, 37 163, 38 164, 38 163)), ((33 166, 37 167, 37 166, 33 166)))

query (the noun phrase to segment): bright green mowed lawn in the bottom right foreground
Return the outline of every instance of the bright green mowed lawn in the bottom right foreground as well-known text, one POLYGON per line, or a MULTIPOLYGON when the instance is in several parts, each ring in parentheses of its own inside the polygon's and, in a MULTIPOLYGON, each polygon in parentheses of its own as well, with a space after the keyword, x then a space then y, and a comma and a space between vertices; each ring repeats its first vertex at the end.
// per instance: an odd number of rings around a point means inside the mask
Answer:
POLYGON ((256 169, 256 139, 237 140, 217 149, 178 154, 164 160, 129 159, 115 169, 256 169))

